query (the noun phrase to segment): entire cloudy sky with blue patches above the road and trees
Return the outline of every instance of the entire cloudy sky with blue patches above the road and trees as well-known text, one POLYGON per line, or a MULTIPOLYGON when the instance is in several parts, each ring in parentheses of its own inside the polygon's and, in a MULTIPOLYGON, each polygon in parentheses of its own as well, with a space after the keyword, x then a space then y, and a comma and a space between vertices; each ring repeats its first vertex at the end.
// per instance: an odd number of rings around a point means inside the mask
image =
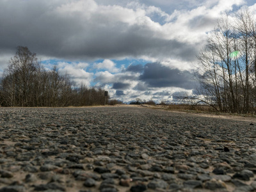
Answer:
POLYGON ((221 13, 254 0, 0 0, 0 73, 17 46, 45 68, 124 102, 193 92, 191 71, 221 13))

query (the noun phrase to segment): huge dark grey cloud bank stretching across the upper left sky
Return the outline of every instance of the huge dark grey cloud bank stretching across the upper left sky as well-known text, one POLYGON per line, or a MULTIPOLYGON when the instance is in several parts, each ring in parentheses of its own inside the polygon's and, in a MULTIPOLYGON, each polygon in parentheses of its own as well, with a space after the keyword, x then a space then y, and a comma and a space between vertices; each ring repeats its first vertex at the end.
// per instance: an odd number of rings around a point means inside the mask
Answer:
POLYGON ((15 51, 22 45, 40 55, 70 60, 120 56, 191 60, 197 51, 195 46, 158 37, 149 25, 113 21, 113 16, 100 10, 89 16, 86 8, 83 12, 71 12, 72 7, 65 10, 67 3, 1 1, 0 51, 15 51))

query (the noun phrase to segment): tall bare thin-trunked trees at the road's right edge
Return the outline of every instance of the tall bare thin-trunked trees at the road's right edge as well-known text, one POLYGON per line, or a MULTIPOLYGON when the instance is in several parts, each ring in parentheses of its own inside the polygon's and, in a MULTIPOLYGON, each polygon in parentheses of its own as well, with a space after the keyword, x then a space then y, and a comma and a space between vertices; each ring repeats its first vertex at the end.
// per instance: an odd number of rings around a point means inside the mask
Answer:
POLYGON ((248 8, 221 17, 198 60, 200 96, 184 99, 224 113, 256 113, 256 22, 248 8))

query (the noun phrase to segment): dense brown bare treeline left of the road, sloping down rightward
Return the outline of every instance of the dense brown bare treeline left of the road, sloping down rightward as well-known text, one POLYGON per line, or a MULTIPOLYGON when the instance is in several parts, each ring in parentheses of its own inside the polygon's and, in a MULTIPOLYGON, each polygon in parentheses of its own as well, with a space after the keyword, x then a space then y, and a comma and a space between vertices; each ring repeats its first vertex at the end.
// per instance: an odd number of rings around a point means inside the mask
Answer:
POLYGON ((56 67, 45 70, 28 47, 17 47, 1 81, 1 106, 92 106, 104 102, 104 90, 77 86, 68 74, 61 75, 56 67))

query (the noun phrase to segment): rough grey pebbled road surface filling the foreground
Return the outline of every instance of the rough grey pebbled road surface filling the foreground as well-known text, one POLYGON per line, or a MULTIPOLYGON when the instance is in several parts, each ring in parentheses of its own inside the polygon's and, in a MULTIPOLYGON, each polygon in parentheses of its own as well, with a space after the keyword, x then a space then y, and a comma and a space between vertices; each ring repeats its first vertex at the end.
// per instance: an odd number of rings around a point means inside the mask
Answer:
POLYGON ((0 108, 2 191, 256 191, 250 122, 147 108, 0 108))

